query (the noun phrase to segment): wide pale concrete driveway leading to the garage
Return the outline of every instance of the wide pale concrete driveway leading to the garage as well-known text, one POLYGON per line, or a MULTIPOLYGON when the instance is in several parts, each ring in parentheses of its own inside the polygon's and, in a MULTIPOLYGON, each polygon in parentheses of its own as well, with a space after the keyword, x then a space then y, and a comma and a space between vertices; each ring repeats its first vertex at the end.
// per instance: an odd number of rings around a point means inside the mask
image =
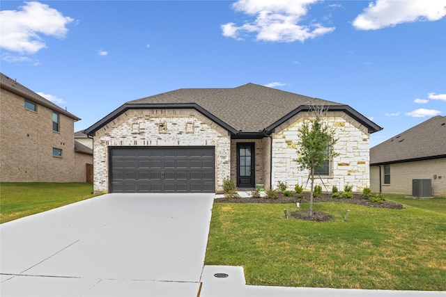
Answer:
POLYGON ((0 225, 1 296, 197 296, 214 194, 107 194, 0 225))

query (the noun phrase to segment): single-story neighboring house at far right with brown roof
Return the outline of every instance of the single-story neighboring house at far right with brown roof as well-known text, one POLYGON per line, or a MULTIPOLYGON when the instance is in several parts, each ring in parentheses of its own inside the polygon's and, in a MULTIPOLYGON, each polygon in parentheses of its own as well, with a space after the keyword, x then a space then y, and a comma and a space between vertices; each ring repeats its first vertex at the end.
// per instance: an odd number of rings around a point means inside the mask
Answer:
POLYGON ((428 180, 432 196, 446 197, 445 116, 430 118, 370 150, 371 191, 411 196, 421 179, 428 180))

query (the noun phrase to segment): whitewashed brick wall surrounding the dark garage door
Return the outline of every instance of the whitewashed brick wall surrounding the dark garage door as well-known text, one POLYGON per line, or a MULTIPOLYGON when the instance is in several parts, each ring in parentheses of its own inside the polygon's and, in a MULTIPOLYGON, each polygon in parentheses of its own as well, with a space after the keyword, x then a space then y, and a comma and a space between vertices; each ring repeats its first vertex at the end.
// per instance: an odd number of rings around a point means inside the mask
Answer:
POLYGON ((94 137, 94 191, 107 193, 109 147, 213 146, 215 189, 231 177, 231 138, 228 132, 194 109, 130 109, 96 131, 94 137))

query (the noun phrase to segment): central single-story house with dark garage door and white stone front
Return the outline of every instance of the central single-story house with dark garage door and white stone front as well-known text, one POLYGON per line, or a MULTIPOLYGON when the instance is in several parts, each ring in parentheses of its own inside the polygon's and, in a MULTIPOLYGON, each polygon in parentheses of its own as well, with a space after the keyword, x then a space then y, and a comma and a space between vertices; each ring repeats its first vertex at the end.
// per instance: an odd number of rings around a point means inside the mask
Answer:
POLYGON ((239 188, 305 186, 309 172, 293 159, 314 106, 339 139, 316 182, 369 186, 369 134, 382 128, 350 106, 248 83, 134 100, 96 122, 84 131, 94 136, 94 190, 213 193, 227 178, 239 188))

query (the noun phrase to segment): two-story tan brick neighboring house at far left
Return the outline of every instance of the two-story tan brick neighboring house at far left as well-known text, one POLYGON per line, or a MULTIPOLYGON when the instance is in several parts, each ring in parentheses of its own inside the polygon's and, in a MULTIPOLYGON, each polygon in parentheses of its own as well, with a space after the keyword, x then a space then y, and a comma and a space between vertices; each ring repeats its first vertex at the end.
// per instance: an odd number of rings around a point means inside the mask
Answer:
POLYGON ((75 151, 80 119, 4 74, 0 87, 0 181, 85 182, 93 156, 75 151))

